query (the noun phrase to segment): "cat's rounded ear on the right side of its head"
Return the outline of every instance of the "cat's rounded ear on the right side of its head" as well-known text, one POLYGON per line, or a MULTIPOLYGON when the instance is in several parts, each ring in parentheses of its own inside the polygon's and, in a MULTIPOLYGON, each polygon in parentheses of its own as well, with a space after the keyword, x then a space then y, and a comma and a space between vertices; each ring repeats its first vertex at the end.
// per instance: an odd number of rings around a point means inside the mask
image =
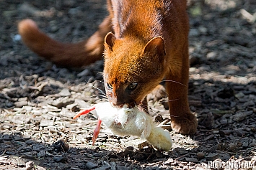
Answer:
POLYGON ((154 37, 144 47, 144 55, 158 55, 160 60, 164 60, 165 42, 162 37, 154 37))

